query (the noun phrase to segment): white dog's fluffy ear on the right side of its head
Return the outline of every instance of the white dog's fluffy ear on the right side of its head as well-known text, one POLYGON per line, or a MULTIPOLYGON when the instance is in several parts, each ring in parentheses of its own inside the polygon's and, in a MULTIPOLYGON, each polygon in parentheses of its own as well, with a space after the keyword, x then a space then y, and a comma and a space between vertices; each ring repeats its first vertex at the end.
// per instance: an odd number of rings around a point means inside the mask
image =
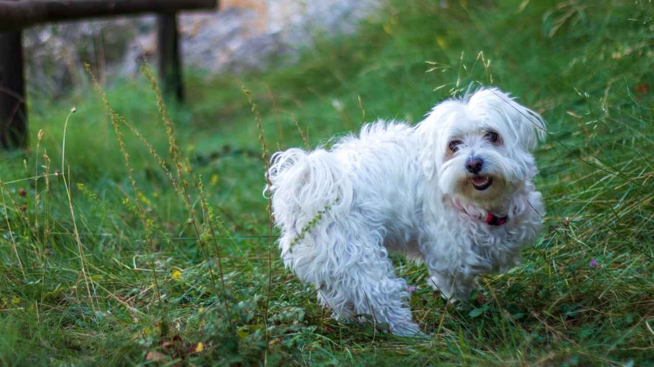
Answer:
POLYGON ((525 150, 533 150, 538 140, 547 134, 545 121, 537 112, 517 103, 511 95, 498 88, 480 89, 468 100, 471 110, 478 116, 489 116, 491 121, 505 121, 508 125, 503 133, 508 134, 507 142, 515 142, 525 150))

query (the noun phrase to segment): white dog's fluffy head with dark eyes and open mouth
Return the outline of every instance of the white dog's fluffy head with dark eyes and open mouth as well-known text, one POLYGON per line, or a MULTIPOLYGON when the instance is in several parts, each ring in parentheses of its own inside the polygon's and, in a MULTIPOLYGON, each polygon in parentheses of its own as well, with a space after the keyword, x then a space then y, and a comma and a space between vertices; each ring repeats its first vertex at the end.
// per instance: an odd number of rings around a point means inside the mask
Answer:
POLYGON ((420 164, 444 195, 490 207, 537 170, 530 151, 545 136, 541 116, 496 88, 437 104, 417 125, 420 164))

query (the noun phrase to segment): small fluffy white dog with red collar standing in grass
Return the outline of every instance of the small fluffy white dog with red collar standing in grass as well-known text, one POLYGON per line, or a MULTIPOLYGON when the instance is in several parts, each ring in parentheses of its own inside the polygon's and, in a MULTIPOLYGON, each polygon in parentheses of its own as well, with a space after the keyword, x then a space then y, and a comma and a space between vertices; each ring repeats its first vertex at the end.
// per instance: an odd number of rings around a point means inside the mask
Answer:
POLYGON ((515 266, 542 227, 530 150, 544 135, 536 112, 492 88, 437 104, 414 127, 377 121, 331 149, 275 153, 264 193, 284 264, 334 317, 420 334, 388 252, 424 262, 430 284, 462 302, 477 275, 515 266))

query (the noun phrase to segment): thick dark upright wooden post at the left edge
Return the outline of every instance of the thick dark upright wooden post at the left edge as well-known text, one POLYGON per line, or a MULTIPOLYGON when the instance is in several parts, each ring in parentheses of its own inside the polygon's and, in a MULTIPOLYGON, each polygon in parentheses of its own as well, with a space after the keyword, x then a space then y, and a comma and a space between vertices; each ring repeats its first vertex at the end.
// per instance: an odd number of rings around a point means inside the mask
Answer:
POLYGON ((0 33, 0 144, 5 150, 27 145, 21 31, 0 33))

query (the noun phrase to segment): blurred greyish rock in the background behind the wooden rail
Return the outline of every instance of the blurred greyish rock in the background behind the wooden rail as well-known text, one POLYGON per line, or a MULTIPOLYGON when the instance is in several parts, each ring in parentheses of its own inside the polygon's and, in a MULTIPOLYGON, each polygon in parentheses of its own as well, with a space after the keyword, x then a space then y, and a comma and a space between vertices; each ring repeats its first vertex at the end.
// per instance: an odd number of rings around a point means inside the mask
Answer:
MULTIPOLYGON (((180 16, 182 64, 210 74, 264 70, 271 59, 294 61, 317 35, 352 33, 380 0, 224 0, 218 12, 180 16)), ((32 93, 58 95, 86 83, 84 63, 100 80, 156 64, 154 16, 86 20, 25 31, 32 93)))

